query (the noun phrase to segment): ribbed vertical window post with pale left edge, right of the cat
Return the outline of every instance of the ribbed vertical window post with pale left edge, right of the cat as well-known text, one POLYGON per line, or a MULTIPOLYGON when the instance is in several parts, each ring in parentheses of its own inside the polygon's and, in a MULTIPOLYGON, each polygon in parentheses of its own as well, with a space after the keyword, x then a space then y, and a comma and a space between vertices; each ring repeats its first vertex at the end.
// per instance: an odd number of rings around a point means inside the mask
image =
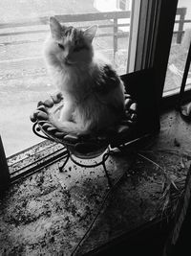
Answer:
POLYGON ((158 33, 159 4, 162 0, 133 1, 127 71, 150 68, 158 33))

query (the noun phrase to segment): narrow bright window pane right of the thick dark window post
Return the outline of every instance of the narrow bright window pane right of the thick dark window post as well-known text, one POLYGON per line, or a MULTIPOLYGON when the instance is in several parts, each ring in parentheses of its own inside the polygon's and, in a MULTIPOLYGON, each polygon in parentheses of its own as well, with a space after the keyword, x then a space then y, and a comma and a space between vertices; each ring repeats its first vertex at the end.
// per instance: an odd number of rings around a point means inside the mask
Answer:
MULTIPOLYGON (((180 92, 190 42, 191 2, 190 0, 179 0, 163 91, 164 96, 180 92)), ((191 88, 191 69, 186 81, 186 89, 189 88, 191 88)))

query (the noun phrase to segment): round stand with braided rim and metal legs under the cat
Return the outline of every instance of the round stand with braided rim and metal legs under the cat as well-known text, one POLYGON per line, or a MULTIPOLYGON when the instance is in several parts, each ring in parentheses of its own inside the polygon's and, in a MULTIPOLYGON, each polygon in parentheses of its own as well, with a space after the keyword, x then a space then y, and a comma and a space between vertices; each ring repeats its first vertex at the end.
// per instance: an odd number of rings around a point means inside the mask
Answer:
POLYGON ((37 108, 31 115, 31 120, 34 123, 32 127, 33 132, 41 138, 49 139, 66 147, 67 153, 64 156, 64 163, 59 167, 60 171, 63 170, 69 158, 76 165, 81 167, 93 168, 102 165, 108 177, 109 185, 111 185, 105 161, 113 152, 113 148, 120 148, 127 142, 127 138, 137 123, 137 103, 129 94, 125 94, 125 111, 118 126, 87 135, 66 134, 58 128, 55 128, 49 121, 49 113, 58 115, 63 104, 64 100, 60 93, 51 96, 45 102, 39 102, 37 108), (93 159, 101 155, 101 160, 95 164, 81 164, 77 161, 77 158, 93 159))

